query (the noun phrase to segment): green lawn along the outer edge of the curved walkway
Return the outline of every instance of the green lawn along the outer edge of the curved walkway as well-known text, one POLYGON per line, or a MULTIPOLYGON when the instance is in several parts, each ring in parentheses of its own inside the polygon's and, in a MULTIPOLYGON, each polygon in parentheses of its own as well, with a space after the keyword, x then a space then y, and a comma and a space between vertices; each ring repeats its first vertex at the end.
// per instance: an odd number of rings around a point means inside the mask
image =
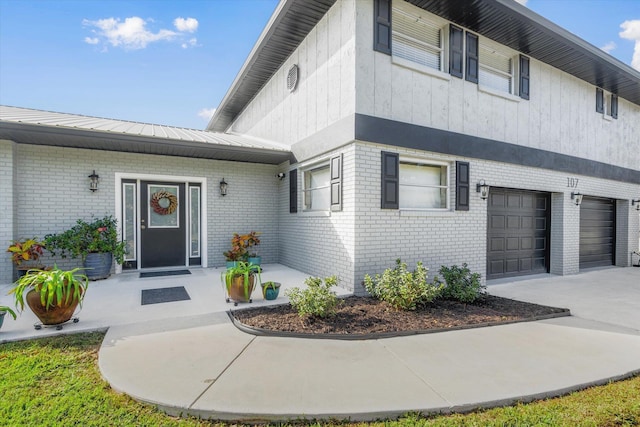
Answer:
MULTIPOLYGON (((0 424, 211 426, 113 392, 97 367, 103 333, 0 345, 0 424)), ((365 424, 360 424, 365 425, 365 424)), ((465 415, 408 415, 372 426, 640 426, 640 377, 568 396, 465 415)))

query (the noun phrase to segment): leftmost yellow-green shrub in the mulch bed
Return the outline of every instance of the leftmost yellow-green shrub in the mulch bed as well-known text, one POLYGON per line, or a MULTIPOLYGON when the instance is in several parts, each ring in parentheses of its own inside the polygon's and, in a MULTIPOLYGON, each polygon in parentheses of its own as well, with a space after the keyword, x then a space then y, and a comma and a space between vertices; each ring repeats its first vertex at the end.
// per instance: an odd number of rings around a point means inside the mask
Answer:
POLYGON ((332 286, 338 284, 336 276, 322 279, 319 277, 309 277, 304 281, 306 289, 292 288, 285 292, 289 297, 291 306, 301 317, 331 317, 334 316, 340 300, 336 293, 331 291, 332 286))

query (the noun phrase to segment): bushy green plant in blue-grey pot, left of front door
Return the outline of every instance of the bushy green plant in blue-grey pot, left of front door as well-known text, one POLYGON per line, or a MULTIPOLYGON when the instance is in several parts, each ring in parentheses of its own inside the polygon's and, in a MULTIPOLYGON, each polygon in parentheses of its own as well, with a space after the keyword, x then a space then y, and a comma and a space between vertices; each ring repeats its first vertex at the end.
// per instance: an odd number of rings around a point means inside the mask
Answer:
POLYGON ((118 239, 116 220, 111 216, 91 222, 79 219, 62 233, 46 235, 45 247, 54 256, 81 257, 89 280, 109 277, 113 259, 122 264, 126 253, 126 242, 118 239))

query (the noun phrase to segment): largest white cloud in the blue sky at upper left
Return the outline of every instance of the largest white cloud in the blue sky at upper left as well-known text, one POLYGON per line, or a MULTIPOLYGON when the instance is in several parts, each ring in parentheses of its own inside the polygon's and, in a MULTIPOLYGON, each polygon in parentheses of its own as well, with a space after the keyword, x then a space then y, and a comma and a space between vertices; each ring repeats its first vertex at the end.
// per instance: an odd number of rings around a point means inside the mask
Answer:
POLYGON ((96 27, 97 30, 94 30, 94 33, 97 36, 106 39, 106 42, 111 46, 125 49, 144 49, 149 43, 171 40, 177 35, 170 30, 160 30, 157 33, 149 31, 146 28, 147 22, 137 16, 126 18, 124 22, 120 21, 120 18, 99 19, 97 21, 85 19, 82 24, 96 27))

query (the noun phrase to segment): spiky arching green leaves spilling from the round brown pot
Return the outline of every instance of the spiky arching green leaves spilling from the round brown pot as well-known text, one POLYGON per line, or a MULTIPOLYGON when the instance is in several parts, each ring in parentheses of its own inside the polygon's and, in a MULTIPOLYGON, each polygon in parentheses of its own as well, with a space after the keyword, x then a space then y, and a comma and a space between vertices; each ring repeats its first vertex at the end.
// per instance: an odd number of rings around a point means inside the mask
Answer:
POLYGON ((89 279, 78 273, 80 270, 82 269, 60 270, 57 266, 50 270, 29 270, 15 282, 9 294, 14 295, 15 306, 20 311, 24 310, 26 293, 32 289, 40 293, 40 302, 46 310, 76 300, 82 305, 89 279))

